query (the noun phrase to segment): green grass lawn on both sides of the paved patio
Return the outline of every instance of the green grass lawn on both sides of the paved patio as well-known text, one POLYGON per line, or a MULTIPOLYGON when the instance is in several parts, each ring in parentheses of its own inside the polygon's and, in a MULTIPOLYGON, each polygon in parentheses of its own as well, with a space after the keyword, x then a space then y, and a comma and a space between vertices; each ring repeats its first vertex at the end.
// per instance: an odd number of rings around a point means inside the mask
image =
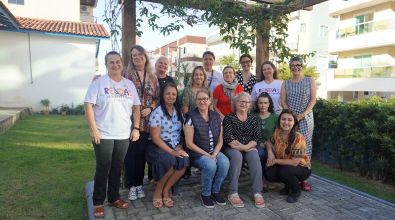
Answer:
MULTIPOLYGON (((87 219, 95 156, 81 115, 30 115, 0 135, 0 219, 87 219)), ((313 173, 395 202, 394 187, 313 164, 313 173)))

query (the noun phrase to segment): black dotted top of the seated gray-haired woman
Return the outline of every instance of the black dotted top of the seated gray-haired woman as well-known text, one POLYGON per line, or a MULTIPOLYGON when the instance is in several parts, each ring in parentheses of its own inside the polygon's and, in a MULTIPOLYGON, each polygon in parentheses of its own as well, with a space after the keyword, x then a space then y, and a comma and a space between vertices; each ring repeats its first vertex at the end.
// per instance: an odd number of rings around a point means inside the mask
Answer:
POLYGON ((261 143, 261 128, 256 117, 247 114, 247 120, 244 122, 237 118, 236 112, 227 114, 222 123, 223 139, 225 146, 229 147, 230 142, 237 140, 246 145, 254 140, 257 145, 261 143))

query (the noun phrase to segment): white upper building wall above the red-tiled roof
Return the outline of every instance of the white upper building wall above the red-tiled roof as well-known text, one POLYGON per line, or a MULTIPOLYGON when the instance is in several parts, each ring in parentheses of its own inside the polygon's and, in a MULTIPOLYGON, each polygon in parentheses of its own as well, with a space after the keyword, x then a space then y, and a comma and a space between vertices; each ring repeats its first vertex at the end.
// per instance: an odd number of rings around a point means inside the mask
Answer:
POLYGON ((25 5, 2 2, 14 16, 79 21, 79 0, 25 0, 25 5))

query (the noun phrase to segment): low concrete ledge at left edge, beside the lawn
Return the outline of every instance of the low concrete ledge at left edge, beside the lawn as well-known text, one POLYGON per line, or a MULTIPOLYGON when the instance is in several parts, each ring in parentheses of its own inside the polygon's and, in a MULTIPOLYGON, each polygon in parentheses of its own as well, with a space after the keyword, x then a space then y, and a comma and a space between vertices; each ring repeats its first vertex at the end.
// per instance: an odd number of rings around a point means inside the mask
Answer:
POLYGON ((29 108, 0 108, 0 134, 29 115, 29 108))

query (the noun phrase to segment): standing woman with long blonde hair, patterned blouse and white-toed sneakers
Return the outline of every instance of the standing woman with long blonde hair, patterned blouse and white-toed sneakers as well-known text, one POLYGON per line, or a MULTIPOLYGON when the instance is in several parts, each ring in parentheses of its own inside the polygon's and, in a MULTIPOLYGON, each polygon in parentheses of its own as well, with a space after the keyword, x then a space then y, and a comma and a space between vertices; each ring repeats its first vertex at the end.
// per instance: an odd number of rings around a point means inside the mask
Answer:
POLYGON ((133 129, 140 131, 140 138, 137 141, 130 141, 125 157, 125 173, 130 188, 128 199, 135 200, 146 196, 143 189, 143 178, 145 148, 150 136, 148 121, 151 112, 159 103, 159 83, 151 68, 149 56, 144 47, 140 45, 130 48, 129 64, 123 74, 135 85, 141 102, 140 127, 133 127, 133 129))

